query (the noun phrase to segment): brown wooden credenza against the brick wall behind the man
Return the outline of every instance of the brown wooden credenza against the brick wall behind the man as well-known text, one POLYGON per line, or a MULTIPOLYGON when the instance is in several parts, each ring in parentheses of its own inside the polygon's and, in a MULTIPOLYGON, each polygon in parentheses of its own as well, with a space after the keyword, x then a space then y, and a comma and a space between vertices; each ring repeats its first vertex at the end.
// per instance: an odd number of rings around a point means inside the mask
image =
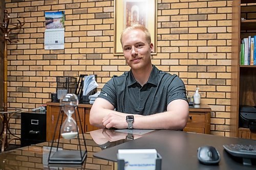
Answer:
MULTIPOLYGON (((59 113, 59 103, 47 102, 47 141, 52 140, 57 117, 59 113)), ((97 130, 98 128, 90 125, 89 115, 92 105, 79 104, 79 114, 84 132, 97 130)), ((184 131, 210 134, 210 112, 208 105, 195 105, 189 107, 189 116, 184 131)), ((65 117, 66 118, 66 117, 65 117)), ((59 120, 60 121, 60 120, 59 120)), ((59 123, 60 124, 60 123, 59 123)), ((57 132, 58 133, 58 132, 57 132)))

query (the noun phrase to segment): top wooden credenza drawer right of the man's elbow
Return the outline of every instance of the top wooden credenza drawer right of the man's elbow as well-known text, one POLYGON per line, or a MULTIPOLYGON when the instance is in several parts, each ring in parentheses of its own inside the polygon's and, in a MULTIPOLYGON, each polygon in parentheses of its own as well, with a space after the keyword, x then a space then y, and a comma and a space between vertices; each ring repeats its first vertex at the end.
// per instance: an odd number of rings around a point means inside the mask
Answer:
POLYGON ((205 128, 205 114, 190 112, 186 128, 205 128))

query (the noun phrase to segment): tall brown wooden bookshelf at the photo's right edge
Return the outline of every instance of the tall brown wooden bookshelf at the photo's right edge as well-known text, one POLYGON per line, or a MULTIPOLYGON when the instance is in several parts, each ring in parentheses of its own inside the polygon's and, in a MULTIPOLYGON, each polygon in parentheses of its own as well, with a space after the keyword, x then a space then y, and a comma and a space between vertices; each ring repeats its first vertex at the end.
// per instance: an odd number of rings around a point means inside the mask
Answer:
POLYGON ((256 0, 232 2, 230 136, 233 137, 255 136, 255 132, 239 127, 239 106, 256 105, 256 65, 240 65, 241 39, 256 35, 255 13, 256 0), (241 17, 246 20, 241 21, 241 17), (252 135, 241 135, 244 133, 252 135))

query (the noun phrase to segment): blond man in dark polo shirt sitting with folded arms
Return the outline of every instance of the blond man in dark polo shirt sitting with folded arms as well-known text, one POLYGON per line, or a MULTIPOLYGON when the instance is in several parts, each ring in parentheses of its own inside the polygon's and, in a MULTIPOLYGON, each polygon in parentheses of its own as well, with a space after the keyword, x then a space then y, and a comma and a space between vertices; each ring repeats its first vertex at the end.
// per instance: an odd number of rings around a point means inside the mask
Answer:
POLYGON ((184 83, 152 65, 154 46, 148 30, 133 25, 122 32, 120 41, 131 70, 104 85, 91 108, 90 124, 108 129, 183 129, 188 117, 184 83))

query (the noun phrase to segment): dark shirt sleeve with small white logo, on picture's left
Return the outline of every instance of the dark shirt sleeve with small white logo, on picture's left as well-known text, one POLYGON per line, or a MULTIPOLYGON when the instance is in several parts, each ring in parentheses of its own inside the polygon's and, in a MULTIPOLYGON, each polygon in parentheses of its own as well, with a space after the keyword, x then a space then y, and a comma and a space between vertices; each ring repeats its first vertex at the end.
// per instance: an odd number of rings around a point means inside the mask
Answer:
POLYGON ((98 95, 98 98, 102 98, 109 101, 116 108, 117 102, 116 102, 116 87, 115 87, 114 77, 110 81, 106 82, 106 84, 101 89, 101 92, 98 95))

